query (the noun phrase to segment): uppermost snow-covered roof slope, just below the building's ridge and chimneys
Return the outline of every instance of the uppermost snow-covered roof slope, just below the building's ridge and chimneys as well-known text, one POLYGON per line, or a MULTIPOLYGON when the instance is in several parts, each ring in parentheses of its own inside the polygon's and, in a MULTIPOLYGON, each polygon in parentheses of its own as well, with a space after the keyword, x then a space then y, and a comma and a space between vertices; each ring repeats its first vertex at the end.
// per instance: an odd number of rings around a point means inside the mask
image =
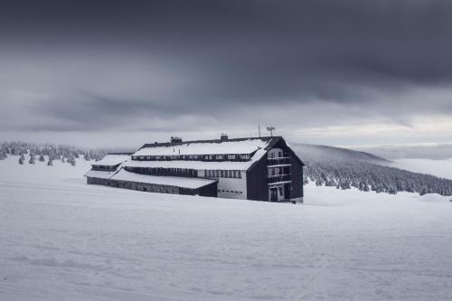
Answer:
POLYGON ((242 140, 185 142, 145 146, 134 155, 227 155, 251 154, 268 146, 269 139, 250 138, 242 140))

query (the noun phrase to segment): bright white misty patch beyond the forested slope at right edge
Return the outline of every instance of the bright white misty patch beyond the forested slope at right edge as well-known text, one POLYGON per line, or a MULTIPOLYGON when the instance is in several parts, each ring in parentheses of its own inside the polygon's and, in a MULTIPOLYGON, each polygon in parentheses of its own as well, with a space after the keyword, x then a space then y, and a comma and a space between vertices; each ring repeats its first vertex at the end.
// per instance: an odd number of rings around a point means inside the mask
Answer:
POLYGON ((433 174, 452 180, 452 158, 446 160, 431 159, 398 159, 393 166, 414 173, 433 174))

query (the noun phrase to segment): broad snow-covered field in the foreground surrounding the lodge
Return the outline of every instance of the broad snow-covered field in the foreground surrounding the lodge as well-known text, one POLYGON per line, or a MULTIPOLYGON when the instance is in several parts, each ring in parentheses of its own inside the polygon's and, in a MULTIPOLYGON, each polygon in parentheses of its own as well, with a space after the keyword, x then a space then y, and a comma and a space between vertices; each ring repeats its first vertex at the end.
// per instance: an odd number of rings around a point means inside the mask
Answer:
POLYGON ((0 300, 447 300, 452 203, 306 187, 306 203, 86 185, 0 161, 0 300))

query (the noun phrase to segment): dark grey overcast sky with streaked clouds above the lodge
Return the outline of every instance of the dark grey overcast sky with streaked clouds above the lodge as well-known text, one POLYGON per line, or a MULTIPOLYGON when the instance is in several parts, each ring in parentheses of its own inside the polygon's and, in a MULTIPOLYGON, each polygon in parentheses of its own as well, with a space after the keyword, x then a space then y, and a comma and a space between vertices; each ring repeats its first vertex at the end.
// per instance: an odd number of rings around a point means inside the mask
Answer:
POLYGON ((0 140, 452 141, 452 1, 0 4, 0 140), (267 133, 265 133, 267 134, 267 133))

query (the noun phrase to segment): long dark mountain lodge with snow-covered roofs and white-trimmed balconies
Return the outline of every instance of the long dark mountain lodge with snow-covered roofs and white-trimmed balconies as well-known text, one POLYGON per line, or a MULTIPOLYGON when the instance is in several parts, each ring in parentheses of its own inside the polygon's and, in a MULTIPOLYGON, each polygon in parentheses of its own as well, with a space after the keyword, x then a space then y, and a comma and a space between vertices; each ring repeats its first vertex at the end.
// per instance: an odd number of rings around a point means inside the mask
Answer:
POLYGON ((87 183, 155 193, 257 201, 302 201, 303 162, 281 136, 182 141, 110 154, 87 183))

